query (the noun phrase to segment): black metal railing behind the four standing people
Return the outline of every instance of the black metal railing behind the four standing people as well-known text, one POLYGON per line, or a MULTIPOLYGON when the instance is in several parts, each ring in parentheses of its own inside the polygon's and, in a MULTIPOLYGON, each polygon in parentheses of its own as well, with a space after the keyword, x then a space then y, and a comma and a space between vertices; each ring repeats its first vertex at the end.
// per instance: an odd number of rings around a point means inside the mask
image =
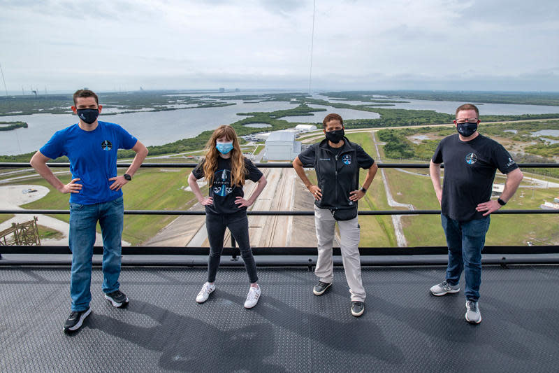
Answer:
MULTIPOLYGON (((69 163, 48 163, 49 167, 58 168, 68 168, 69 163)), ((129 163, 118 163, 117 167, 129 167, 129 163)), ((402 169, 425 169, 429 167, 429 164, 416 164, 416 163, 382 163, 378 164, 379 168, 402 168, 402 169)), ((29 163, 15 163, 15 162, 0 162, 1 167, 9 168, 26 168, 31 167, 29 163)), ((145 168, 193 168, 196 167, 196 163, 144 163, 141 167, 145 168)), ((257 163, 256 167, 259 168, 291 168, 291 163, 257 163)), ((444 167, 444 164, 442 165, 444 167)), ((518 164, 521 169, 526 168, 559 168, 558 163, 522 163, 518 164)), ((68 210, 45 210, 45 209, 33 209, 33 210, 0 210, 0 213, 13 213, 13 214, 69 214, 68 210)), ((382 210, 382 211, 359 211, 360 216, 372 216, 372 215, 439 215, 440 210, 382 210)), ((494 214, 557 214, 559 210, 544 210, 544 209, 521 209, 521 210, 500 210, 495 211, 494 214)), ((205 211, 182 211, 182 210, 125 210, 125 215, 191 215, 191 216, 202 216, 205 215, 205 211)), ((247 211, 249 216, 314 216, 314 211, 247 211)), ((559 220, 558 220, 559 228, 559 220)), ((446 255, 447 247, 444 246, 415 246, 407 248, 371 248, 371 247, 360 247, 361 255, 365 257, 401 257, 401 256, 417 256, 417 255, 446 255)), ((4 254, 70 254, 68 246, 2 246, 1 251, 4 254)), ((102 247, 95 247, 94 254, 101 254, 103 251, 102 247)), ((277 255, 289 255, 291 256, 315 256, 317 255, 316 247, 286 247, 286 248, 275 248, 275 247, 253 247, 254 255, 266 255, 266 256, 277 256, 277 255)), ((136 246, 136 247, 123 247, 122 255, 208 255, 209 248, 203 247, 168 247, 168 246, 136 246)), ((224 248, 224 255, 232 255, 231 265, 242 265, 240 262, 235 263, 235 259, 239 255, 239 251, 235 248, 235 242, 232 240, 231 248, 224 248)), ((484 248, 484 254, 491 255, 542 255, 542 254, 559 254, 559 246, 486 246, 484 248)), ((340 249, 334 248, 334 255, 340 255, 340 249)), ((1 258, 1 255, 0 255, 1 258)), ((375 262, 364 264, 372 265, 435 265, 444 264, 446 259, 438 260, 376 260, 375 262)), ((506 257, 493 258, 491 260, 484 260, 485 263, 495 263, 495 264, 505 264, 511 262, 521 262, 521 263, 558 263, 559 258, 529 258, 524 260, 510 260, 506 257)), ((68 265, 68 260, 38 260, 38 261, 28 261, 28 260, 0 260, 0 265, 68 265)), ((162 261, 162 260, 134 260, 133 263, 123 262, 123 265, 196 265, 196 260, 175 260, 175 261, 162 261)), ((282 261, 278 262, 276 260, 262 260, 259 261, 259 265, 305 265, 312 267, 316 264, 314 258, 309 258, 306 261, 301 262, 300 260, 292 261, 282 261)), ((198 261, 198 265, 201 263, 198 261)))

